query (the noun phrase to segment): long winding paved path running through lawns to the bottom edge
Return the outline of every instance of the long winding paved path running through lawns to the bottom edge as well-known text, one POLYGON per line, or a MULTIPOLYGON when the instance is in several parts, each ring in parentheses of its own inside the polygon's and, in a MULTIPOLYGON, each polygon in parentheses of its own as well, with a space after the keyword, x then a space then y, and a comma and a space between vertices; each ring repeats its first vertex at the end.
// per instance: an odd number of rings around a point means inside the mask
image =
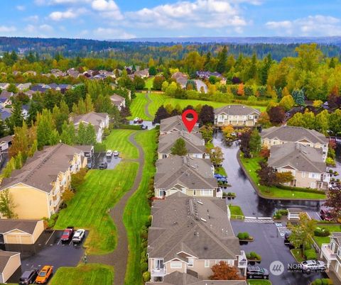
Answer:
POLYGON ((126 194, 124 194, 114 208, 111 208, 109 211, 117 228, 117 247, 114 252, 107 255, 90 255, 88 257, 89 262, 113 266, 114 284, 116 285, 124 284, 124 276, 126 275, 126 264, 129 254, 126 228, 123 223, 124 208, 126 207, 126 202, 129 200, 131 195, 139 188, 142 178, 142 169, 144 168, 144 150, 138 143, 136 143, 135 135, 136 133, 132 133, 129 136, 129 141, 139 150, 139 159, 136 160, 139 162, 139 170, 136 174, 134 185, 128 192, 126 192, 126 194))

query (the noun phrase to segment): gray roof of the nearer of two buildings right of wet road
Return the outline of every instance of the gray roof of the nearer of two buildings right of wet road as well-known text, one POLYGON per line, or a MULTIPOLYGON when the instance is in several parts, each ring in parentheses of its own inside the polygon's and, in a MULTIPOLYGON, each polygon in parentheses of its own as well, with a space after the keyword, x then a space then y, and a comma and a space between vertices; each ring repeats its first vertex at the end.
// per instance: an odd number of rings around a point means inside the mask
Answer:
POLYGON ((325 172, 322 149, 308 147, 301 143, 273 145, 270 150, 268 164, 272 167, 290 165, 301 172, 325 172))

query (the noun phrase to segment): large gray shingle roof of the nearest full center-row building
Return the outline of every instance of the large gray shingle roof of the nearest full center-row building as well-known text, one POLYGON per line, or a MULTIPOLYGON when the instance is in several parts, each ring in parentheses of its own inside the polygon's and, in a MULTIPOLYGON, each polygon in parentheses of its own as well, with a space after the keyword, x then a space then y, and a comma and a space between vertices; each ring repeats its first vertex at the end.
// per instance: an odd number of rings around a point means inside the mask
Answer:
POLYGON ((165 262, 187 260, 178 252, 199 259, 237 259, 240 255, 239 241, 222 199, 195 199, 177 192, 154 201, 152 215, 147 249, 151 258, 163 257, 165 262))

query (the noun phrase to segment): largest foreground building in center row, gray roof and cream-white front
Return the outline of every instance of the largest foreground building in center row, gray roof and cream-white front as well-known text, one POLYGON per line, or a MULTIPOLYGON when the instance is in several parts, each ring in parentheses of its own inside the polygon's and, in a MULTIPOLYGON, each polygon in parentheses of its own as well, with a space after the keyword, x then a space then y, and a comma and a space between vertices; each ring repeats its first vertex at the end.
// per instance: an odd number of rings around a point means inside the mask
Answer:
POLYGON ((207 280, 212 266, 220 261, 239 267, 244 275, 247 258, 228 211, 222 199, 199 199, 180 192, 153 201, 147 247, 151 282, 166 283, 167 275, 174 272, 207 280))

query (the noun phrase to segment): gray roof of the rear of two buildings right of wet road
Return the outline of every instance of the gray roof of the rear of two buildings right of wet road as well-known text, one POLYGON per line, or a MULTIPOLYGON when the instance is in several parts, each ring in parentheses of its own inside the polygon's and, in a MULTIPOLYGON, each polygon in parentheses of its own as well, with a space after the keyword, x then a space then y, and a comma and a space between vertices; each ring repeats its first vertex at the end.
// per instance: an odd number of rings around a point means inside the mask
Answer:
POLYGON ((286 142, 296 143, 300 140, 309 140, 311 143, 328 143, 328 138, 325 135, 318 133, 316 130, 308 130, 308 128, 291 127, 283 125, 281 127, 271 127, 262 130, 261 138, 283 140, 286 142))

